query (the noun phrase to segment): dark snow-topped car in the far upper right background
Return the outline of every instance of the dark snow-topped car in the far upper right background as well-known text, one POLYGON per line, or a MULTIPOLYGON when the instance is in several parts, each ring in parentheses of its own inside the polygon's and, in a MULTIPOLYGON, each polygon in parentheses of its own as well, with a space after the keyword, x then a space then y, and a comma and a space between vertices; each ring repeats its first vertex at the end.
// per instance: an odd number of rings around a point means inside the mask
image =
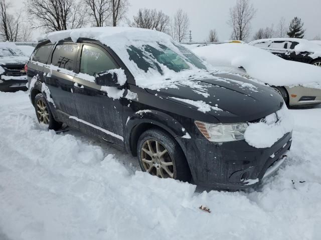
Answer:
POLYGON ((249 45, 260 47, 285 60, 321 66, 321 46, 301 38, 266 38, 254 40, 249 45))

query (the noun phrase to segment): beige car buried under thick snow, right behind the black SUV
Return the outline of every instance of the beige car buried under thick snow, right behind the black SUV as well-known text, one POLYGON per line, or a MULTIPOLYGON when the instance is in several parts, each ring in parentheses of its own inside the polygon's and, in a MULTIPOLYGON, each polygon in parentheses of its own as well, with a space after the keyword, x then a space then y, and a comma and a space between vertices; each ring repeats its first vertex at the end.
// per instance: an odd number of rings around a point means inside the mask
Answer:
POLYGON ((193 51, 216 69, 268 84, 290 106, 321 103, 321 67, 287 61, 247 44, 215 44, 197 47, 193 51))

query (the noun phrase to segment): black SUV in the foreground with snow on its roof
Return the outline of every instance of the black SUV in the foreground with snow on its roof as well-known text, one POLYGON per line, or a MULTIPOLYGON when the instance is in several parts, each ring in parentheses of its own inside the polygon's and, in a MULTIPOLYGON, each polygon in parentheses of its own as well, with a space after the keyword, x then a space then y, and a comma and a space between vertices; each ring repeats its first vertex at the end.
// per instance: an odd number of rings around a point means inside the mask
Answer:
POLYGON ((48 38, 27 75, 38 120, 50 129, 66 123, 138 156, 143 171, 224 189, 257 184, 290 148, 291 131, 265 148, 244 140, 249 123, 282 107, 281 96, 209 71, 164 33, 101 27, 48 38))

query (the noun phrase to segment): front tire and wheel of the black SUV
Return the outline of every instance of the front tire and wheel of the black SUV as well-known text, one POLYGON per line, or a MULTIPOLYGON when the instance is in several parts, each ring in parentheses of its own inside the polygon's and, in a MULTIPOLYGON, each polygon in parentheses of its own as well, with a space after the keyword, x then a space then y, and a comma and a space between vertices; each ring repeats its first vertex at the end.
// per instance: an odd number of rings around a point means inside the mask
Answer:
POLYGON ((182 148, 166 131, 151 128, 143 132, 138 139, 137 156, 142 171, 161 178, 191 180, 190 167, 182 148), (156 151, 157 142, 158 151, 156 151), (152 152, 149 147, 152 148, 152 152), (146 150, 149 151, 149 154, 146 150), (154 156, 151 157, 151 155, 154 156))

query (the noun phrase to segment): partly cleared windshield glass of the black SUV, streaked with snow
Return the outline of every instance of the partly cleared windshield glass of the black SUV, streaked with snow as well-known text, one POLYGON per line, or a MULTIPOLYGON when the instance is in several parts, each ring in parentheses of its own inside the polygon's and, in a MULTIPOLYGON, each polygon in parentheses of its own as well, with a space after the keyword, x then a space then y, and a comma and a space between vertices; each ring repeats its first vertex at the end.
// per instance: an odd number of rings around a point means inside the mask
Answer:
POLYGON ((156 47, 146 44, 137 48, 130 45, 127 48, 127 52, 129 59, 133 60, 145 72, 152 68, 163 75, 162 66, 166 66, 175 72, 180 72, 190 69, 192 67, 191 64, 196 68, 206 69, 202 61, 190 50, 178 44, 175 44, 175 46, 179 52, 161 43, 157 43, 156 47))

